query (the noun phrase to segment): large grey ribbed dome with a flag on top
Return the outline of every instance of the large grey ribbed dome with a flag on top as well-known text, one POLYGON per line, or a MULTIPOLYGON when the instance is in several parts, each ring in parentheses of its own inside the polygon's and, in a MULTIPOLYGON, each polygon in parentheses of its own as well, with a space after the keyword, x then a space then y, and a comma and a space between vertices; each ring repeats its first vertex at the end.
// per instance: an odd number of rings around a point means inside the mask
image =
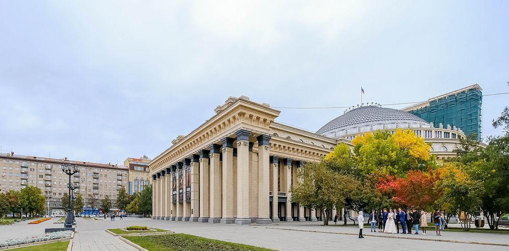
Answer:
POLYGON ((432 125, 406 111, 380 106, 360 106, 325 124, 317 134, 340 138, 346 134, 394 128, 425 127, 432 125))

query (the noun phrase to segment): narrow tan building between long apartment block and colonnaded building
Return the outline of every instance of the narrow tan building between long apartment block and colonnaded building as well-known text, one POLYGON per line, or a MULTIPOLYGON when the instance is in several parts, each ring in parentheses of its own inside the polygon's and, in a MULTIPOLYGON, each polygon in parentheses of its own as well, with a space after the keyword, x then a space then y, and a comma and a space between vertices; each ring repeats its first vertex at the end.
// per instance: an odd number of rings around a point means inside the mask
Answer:
POLYGON ((140 158, 127 158, 124 160, 124 166, 129 169, 129 185, 127 191, 129 194, 143 191, 143 188, 150 185, 149 162, 152 159, 143 155, 140 158))

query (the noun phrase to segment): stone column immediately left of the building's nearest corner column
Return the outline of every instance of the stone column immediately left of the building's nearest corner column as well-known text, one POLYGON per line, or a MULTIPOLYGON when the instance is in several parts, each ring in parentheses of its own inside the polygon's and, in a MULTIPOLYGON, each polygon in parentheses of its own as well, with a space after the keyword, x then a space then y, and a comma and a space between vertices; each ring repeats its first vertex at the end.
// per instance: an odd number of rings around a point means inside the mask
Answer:
POLYGON ((235 223, 233 216, 233 138, 225 137, 222 142, 222 217, 221 223, 235 223))

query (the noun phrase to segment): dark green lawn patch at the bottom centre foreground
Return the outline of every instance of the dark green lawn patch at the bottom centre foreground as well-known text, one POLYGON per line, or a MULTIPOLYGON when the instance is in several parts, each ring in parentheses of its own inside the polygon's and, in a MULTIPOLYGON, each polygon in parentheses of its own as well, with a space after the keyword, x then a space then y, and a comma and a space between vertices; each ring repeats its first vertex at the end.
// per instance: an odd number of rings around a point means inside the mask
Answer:
POLYGON ((126 238, 149 251, 265 251, 273 250, 240 243, 207 239, 188 234, 126 236, 126 238))

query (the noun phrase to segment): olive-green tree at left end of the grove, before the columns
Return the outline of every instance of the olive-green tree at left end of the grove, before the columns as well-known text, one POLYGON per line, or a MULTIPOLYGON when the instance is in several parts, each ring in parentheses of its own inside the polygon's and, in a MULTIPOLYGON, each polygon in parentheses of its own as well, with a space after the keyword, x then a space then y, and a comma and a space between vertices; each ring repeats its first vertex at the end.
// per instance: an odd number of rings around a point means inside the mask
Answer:
POLYGON ((332 171, 325 161, 307 163, 298 173, 299 181, 291 189, 292 202, 322 212, 323 225, 328 225, 328 210, 343 207, 344 198, 355 179, 332 171))

